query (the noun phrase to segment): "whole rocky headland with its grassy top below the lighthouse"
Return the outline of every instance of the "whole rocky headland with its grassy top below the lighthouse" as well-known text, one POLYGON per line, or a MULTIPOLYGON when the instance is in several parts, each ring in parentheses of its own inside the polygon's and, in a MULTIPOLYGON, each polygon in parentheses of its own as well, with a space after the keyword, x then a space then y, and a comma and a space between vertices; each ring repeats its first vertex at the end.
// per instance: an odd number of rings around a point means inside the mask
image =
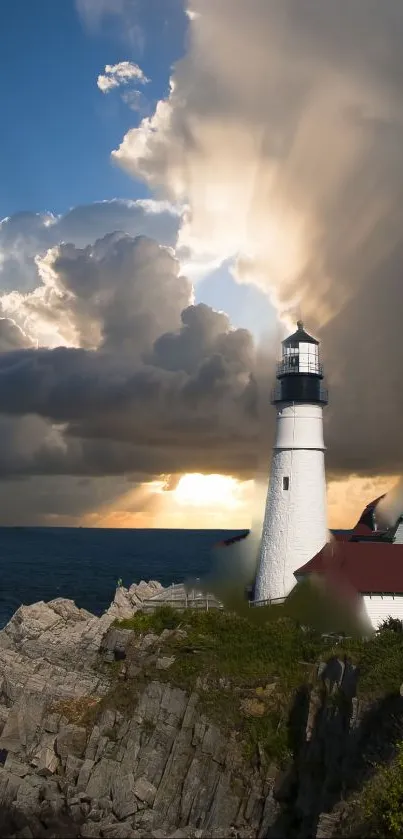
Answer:
POLYGON ((357 696, 351 658, 290 621, 142 614, 158 588, 118 589, 101 617, 22 606, 0 632, 0 834, 353 833, 354 795, 403 738, 401 640, 360 647, 357 696))

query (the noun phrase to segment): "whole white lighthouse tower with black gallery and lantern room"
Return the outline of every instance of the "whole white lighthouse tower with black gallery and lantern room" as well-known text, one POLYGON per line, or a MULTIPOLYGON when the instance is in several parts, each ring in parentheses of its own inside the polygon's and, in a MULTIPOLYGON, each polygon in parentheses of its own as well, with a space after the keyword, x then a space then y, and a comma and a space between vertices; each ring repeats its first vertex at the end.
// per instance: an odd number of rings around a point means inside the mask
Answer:
POLYGON ((302 321, 282 343, 276 435, 263 522, 255 604, 281 600, 295 586, 294 571, 328 541, 323 406, 327 391, 319 342, 302 321))

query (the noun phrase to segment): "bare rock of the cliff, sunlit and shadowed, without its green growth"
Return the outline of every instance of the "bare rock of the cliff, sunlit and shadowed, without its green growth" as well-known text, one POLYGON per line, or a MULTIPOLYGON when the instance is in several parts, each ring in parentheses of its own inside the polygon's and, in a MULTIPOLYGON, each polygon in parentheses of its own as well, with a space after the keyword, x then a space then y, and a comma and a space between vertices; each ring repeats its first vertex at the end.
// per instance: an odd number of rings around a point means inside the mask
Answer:
MULTIPOLYGON (((343 835, 345 799, 403 734, 401 697, 357 699, 357 671, 333 658, 295 693, 287 759, 259 742, 247 755, 206 712, 208 682, 170 676, 186 618, 159 634, 112 625, 158 587, 119 589, 100 618, 62 599, 22 606, 0 632, 0 834, 343 835)), ((252 716, 262 690, 241 700, 252 716)))

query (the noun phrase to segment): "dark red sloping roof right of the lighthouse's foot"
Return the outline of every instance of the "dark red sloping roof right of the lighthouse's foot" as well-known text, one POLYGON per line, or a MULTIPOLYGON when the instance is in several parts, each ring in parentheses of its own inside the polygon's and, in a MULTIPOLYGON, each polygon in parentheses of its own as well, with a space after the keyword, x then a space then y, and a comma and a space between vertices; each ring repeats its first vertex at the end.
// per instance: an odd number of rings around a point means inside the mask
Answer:
POLYGON ((390 542, 329 542, 295 576, 343 577, 361 594, 403 594, 403 545, 390 542))

